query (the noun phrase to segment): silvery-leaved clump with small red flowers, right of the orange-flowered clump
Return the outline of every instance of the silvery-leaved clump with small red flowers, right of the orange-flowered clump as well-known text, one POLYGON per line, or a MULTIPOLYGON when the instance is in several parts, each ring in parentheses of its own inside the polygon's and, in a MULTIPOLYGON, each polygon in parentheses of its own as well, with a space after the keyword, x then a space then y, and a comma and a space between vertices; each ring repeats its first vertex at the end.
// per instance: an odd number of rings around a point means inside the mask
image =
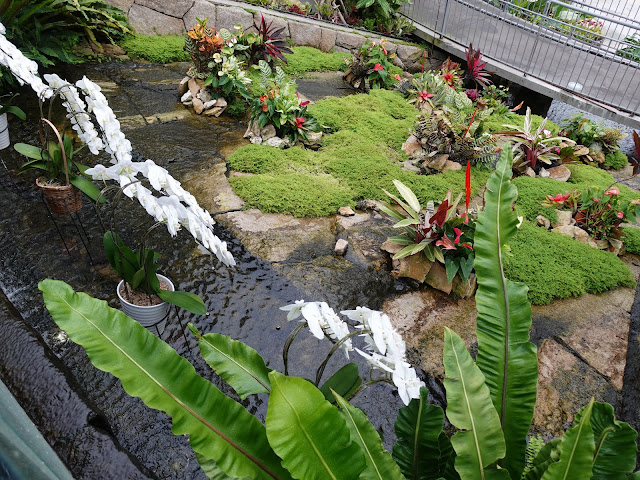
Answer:
POLYGON ((274 73, 264 60, 259 67, 261 89, 254 92, 250 122, 257 121, 259 129, 273 125, 278 136, 288 138, 290 143, 299 138, 307 141, 309 132, 321 132, 322 127, 307 110, 309 102, 300 100, 295 82, 287 79, 278 66, 274 73))

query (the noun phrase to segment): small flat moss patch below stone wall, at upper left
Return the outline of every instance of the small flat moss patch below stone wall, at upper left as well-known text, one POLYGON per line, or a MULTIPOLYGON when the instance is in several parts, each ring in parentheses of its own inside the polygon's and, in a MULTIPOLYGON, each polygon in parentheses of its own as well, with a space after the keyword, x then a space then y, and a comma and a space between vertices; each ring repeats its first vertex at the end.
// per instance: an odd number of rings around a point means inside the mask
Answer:
POLYGON ((179 35, 136 35, 121 43, 133 59, 144 59, 154 63, 188 62, 191 59, 184 51, 184 37, 179 35))

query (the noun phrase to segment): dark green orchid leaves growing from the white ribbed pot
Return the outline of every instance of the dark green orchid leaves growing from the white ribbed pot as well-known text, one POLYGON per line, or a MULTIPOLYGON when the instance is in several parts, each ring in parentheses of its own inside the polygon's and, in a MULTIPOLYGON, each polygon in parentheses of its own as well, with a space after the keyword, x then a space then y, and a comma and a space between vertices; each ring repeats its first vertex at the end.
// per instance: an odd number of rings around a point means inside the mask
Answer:
POLYGON ((103 245, 109 265, 124 280, 125 299, 128 299, 133 292, 140 292, 149 299, 150 305, 154 304, 154 297, 158 297, 162 301, 196 315, 207 313, 207 308, 198 295, 160 288, 157 276, 158 269, 161 267, 157 263, 160 254, 153 249, 143 244, 138 250, 132 250, 124 244, 120 235, 113 231, 107 231, 104 234, 103 245))

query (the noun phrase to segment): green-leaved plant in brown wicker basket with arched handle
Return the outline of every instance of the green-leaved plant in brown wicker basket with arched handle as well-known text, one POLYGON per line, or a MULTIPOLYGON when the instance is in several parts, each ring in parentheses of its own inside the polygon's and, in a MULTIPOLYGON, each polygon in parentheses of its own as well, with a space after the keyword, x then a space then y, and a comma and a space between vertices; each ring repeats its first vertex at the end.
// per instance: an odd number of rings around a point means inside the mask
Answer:
POLYGON ((16 143, 17 152, 30 158, 20 166, 20 173, 28 170, 40 170, 46 175, 36 178, 36 185, 42 191, 53 213, 74 213, 82 208, 82 195, 96 201, 100 190, 91 183, 83 172, 89 168, 73 161, 78 149, 73 148, 71 138, 58 132, 58 129, 46 118, 39 123, 41 146, 16 143), (45 128, 49 127, 55 139, 49 139, 45 128))

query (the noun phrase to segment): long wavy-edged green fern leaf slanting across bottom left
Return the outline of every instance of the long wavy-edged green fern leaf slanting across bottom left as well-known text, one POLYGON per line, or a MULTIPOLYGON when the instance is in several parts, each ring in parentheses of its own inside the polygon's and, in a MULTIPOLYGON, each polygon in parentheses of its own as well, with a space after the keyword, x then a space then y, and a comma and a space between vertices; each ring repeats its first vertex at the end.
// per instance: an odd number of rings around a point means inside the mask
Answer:
POLYGON ((120 379, 129 395, 173 419, 175 435, 236 478, 290 479, 267 442, 264 426, 242 405, 196 374, 165 342, 103 300, 75 293, 64 282, 38 288, 53 320, 99 369, 120 379))

